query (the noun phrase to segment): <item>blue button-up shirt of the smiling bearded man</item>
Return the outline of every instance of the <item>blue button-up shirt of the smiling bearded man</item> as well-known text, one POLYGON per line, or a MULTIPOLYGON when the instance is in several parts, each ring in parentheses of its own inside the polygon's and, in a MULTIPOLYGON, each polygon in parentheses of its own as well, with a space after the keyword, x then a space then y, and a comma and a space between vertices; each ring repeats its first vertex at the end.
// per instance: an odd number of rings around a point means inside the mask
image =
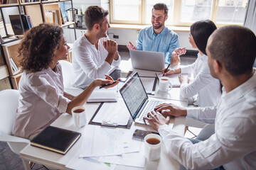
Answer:
POLYGON ((139 32, 137 50, 164 52, 166 63, 171 61, 171 52, 179 47, 178 34, 164 27, 158 35, 154 33, 153 26, 144 28, 139 32))

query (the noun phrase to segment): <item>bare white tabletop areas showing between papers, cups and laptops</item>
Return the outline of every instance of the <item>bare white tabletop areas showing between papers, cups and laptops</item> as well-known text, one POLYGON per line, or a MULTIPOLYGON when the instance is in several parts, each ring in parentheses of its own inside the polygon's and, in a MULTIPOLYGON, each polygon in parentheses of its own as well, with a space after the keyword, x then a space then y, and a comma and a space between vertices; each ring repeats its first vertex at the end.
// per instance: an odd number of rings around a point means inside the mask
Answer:
MULTIPOLYGON (((151 76, 155 75, 155 72, 149 72, 144 70, 137 70, 141 76, 151 76)), ((78 90, 70 89, 68 91, 70 94, 79 94, 78 90)), ((158 88, 156 87, 156 94, 154 97, 159 98, 166 98, 171 101, 171 103, 175 103, 179 106, 187 106, 187 101, 185 98, 179 97, 179 89, 173 88, 171 91, 169 91, 168 94, 161 93, 158 91, 158 88), (174 99, 174 100, 170 100, 174 99)), ((92 115, 97 110, 97 107, 100 105, 100 103, 85 103, 85 108, 87 112, 87 122, 89 122, 92 115)), ((175 118, 171 120, 170 125, 173 126, 173 130, 178 132, 180 135, 184 134, 185 129, 185 117, 175 118)), ((53 126, 59 127, 59 128, 65 128, 68 130, 74 130, 83 133, 83 128, 75 128, 73 125, 72 116, 68 113, 64 113, 61 115, 55 122, 52 123, 53 126)), ((138 129, 145 129, 145 130, 153 130, 151 127, 146 125, 138 125, 133 124, 132 128, 138 129), (134 127, 136 126, 136 127, 134 127)), ((76 152, 80 149, 80 146, 82 144, 82 140, 78 140, 78 142, 73 145, 73 147, 67 152, 67 154, 62 155, 55 152, 50 152, 46 149, 41 149, 38 147, 33 147, 31 145, 28 145, 21 151, 21 159, 23 160, 23 164, 25 169, 30 169, 30 166, 28 165, 28 161, 35 162, 38 164, 43 164, 49 168, 53 169, 67 169, 65 167, 66 164, 70 161, 70 159, 73 158, 76 152)), ((169 154, 166 153, 166 149, 163 145, 162 152, 161 152, 161 158, 156 162, 146 162, 145 169, 179 169, 179 164, 176 162, 174 158, 172 158, 169 154)), ((121 166, 117 165, 115 167, 117 170, 121 169, 140 169, 132 166, 121 166)))

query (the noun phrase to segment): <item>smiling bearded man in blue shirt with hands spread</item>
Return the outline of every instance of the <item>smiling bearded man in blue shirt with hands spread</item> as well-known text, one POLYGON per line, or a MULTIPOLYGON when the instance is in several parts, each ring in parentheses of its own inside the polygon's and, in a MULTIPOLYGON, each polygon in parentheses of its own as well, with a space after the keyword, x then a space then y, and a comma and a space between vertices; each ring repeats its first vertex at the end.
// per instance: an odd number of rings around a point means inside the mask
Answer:
POLYGON ((129 50, 145 50, 164 52, 165 62, 178 64, 179 55, 186 53, 186 48, 178 48, 178 35, 173 30, 164 26, 168 18, 168 7, 166 4, 155 4, 152 8, 152 26, 144 28, 139 32, 137 47, 129 42, 129 50))

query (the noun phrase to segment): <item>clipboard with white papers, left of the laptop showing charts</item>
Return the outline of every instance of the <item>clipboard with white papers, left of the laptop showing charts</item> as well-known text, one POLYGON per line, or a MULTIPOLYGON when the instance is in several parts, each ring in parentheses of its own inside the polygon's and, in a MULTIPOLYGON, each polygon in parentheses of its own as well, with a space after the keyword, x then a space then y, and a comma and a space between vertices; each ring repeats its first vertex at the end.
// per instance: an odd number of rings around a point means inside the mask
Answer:
POLYGON ((117 103, 101 103, 89 124, 130 128, 132 118, 122 98, 117 103))

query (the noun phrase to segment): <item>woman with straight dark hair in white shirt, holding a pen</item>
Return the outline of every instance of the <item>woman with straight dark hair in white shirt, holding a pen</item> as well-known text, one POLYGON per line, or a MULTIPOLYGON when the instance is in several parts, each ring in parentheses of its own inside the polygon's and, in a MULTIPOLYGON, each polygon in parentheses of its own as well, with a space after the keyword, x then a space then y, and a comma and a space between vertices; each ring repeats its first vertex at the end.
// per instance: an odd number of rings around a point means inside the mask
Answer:
MULTIPOLYGON (((168 69, 166 74, 193 74, 194 79, 180 75, 181 96, 189 98, 188 104, 200 107, 215 106, 220 98, 220 81, 210 75, 206 44, 210 35, 216 30, 213 21, 202 20, 193 23, 189 33, 189 42, 198 50, 198 58, 193 64, 178 69, 168 69)), ((164 73, 165 69, 162 70, 164 73)))

